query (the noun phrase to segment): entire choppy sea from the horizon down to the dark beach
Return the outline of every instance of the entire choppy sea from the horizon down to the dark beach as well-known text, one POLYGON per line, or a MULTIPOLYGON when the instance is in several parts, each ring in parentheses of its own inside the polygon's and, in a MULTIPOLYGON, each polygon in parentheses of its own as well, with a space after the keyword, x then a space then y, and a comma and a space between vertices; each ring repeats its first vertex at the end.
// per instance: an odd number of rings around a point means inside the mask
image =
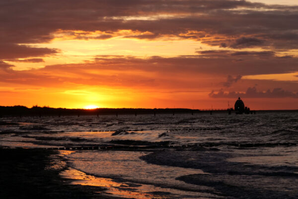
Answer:
MULTIPOLYGON (((298 112, 0 118, 0 146, 57 150, 71 184, 135 199, 298 199, 298 112)), ((55 158, 53 158, 53 161, 55 158)))

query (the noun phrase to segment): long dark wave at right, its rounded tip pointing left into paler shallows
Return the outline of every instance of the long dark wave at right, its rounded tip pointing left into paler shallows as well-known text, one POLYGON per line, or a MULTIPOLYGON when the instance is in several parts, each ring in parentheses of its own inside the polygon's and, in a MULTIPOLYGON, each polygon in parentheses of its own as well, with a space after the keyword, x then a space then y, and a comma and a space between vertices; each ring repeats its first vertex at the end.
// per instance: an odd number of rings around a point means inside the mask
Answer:
MULTIPOLYGON (((227 159, 235 157, 235 154, 229 154, 222 150, 211 151, 209 149, 202 149, 202 153, 196 151, 183 150, 163 150, 142 156, 141 159, 151 164, 176 166, 183 168, 202 169, 206 173, 213 173, 219 175, 282 175, 289 176, 289 173, 297 173, 297 166, 266 166, 258 164, 249 164, 248 162, 233 162, 227 159), (221 165, 221 167, 219 167, 221 165)), ((298 175, 296 175, 298 177, 298 175)))

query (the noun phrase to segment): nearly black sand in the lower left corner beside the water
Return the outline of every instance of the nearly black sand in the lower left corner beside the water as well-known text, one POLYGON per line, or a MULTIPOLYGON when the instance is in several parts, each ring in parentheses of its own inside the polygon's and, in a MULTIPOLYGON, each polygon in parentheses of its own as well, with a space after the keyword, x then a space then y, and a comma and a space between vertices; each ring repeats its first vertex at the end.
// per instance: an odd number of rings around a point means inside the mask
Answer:
POLYGON ((59 173, 66 168, 58 152, 0 149, 0 199, 111 199, 103 188, 69 185, 59 173))

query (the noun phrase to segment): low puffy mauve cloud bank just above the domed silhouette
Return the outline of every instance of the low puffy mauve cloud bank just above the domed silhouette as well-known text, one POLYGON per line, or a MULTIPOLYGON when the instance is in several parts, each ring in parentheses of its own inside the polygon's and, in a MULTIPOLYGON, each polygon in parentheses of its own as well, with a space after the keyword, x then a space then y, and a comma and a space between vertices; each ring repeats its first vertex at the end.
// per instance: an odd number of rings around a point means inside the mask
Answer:
POLYGON ((241 92, 228 92, 225 93, 220 90, 218 93, 212 91, 209 94, 211 98, 298 98, 298 92, 285 91, 281 88, 275 88, 272 91, 268 89, 267 91, 257 91, 256 87, 249 87, 245 93, 241 92))

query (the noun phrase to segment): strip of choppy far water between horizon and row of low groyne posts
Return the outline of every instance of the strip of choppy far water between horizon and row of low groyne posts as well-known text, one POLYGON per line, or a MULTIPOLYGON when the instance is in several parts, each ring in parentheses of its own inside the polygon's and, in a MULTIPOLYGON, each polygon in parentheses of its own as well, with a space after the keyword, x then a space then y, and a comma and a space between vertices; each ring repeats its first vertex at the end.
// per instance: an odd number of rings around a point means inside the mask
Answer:
POLYGON ((1 120, 20 123, 0 126, 2 133, 11 132, 12 136, 22 139, 30 135, 38 145, 53 143, 51 141, 60 145, 105 143, 111 139, 170 141, 173 144, 298 142, 298 113, 15 117, 1 120), (111 136, 116 130, 135 133, 111 136), (166 135, 159 137, 161 133, 166 135), (40 140, 40 137, 48 140, 40 140))

